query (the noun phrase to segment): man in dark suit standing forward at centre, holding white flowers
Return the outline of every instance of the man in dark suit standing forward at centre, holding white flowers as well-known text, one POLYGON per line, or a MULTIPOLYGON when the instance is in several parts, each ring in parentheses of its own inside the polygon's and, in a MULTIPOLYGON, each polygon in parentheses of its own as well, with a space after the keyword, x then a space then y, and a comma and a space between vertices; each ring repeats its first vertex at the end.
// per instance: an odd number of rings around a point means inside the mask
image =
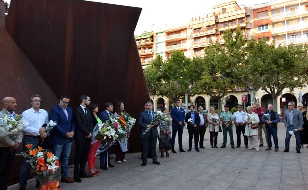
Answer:
POLYGON ((151 125, 155 112, 152 111, 152 103, 145 104, 145 111, 142 111, 139 116, 139 126, 141 127, 140 137, 142 138, 142 166, 147 164, 149 145, 151 147, 151 155, 154 164, 159 165, 156 155, 156 143, 158 138, 158 122, 151 125), (149 131, 146 132, 146 129, 149 131))

